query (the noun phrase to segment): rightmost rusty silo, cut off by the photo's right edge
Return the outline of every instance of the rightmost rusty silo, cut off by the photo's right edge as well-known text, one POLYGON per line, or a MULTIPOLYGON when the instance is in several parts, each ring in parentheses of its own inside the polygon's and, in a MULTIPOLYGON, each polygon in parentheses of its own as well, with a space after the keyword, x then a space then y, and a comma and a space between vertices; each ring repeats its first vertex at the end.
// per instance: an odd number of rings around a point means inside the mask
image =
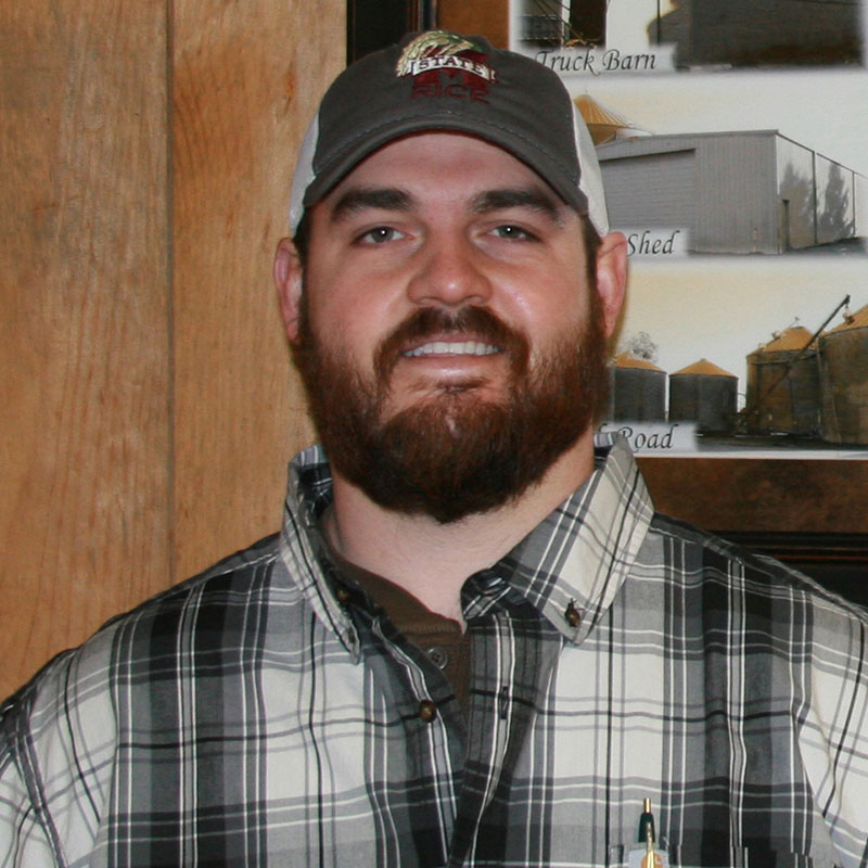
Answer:
POLYGON ((824 439, 868 444, 868 305, 817 343, 824 439))

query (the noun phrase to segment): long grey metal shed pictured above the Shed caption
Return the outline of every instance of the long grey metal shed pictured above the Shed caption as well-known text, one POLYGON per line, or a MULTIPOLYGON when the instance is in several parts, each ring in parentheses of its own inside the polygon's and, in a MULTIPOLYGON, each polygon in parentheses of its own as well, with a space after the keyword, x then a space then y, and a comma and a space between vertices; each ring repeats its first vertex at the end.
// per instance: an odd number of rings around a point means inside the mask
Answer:
POLYGON ((863 234, 868 179, 777 130, 642 136, 597 149, 620 229, 697 253, 783 253, 863 234))

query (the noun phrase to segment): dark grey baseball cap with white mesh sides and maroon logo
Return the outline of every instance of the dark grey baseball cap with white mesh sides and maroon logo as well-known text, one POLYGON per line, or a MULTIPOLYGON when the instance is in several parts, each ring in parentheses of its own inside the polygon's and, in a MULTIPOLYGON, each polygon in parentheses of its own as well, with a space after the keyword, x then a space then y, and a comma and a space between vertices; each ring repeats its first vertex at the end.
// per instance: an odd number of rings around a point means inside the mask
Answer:
POLYGON ((597 231, 609 231, 590 133, 560 78, 541 63, 447 30, 409 34, 332 82, 305 135, 290 228, 366 156, 411 132, 477 136, 521 159, 597 231))

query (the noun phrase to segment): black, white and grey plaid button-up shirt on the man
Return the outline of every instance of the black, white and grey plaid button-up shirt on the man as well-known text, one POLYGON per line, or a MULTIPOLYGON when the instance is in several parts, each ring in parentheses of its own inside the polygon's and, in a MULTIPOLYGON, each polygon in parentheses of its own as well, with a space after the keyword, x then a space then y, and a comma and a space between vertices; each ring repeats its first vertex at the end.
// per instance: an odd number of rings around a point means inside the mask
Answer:
POLYGON ((3 866, 868 865, 866 614, 654 515, 626 447, 471 576, 470 711, 285 526, 3 709, 3 866))

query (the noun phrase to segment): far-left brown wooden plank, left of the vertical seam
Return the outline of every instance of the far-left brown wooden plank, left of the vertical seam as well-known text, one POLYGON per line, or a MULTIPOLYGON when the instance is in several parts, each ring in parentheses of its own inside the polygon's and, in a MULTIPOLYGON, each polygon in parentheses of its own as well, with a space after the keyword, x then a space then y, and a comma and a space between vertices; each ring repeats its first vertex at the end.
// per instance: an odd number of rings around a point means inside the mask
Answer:
POLYGON ((165 3, 0 10, 0 693, 170 582, 165 3))

